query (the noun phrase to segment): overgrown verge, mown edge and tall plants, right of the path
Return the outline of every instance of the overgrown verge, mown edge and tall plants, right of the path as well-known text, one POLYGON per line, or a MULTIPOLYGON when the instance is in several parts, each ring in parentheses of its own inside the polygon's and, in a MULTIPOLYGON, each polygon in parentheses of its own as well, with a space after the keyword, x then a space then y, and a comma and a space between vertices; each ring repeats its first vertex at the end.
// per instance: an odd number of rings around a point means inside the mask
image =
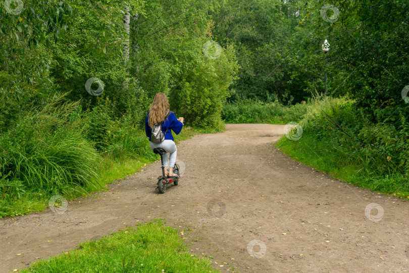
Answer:
MULTIPOLYGON (((397 118, 389 121, 385 111, 373 120, 354 107, 347 98, 315 98, 301 120, 294 120, 303 129, 301 138, 283 136, 275 146, 346 183, 409 199, 406 118, 396 111, 397 118)), ((293 130, 289 135, 295 136, 293 130)))

